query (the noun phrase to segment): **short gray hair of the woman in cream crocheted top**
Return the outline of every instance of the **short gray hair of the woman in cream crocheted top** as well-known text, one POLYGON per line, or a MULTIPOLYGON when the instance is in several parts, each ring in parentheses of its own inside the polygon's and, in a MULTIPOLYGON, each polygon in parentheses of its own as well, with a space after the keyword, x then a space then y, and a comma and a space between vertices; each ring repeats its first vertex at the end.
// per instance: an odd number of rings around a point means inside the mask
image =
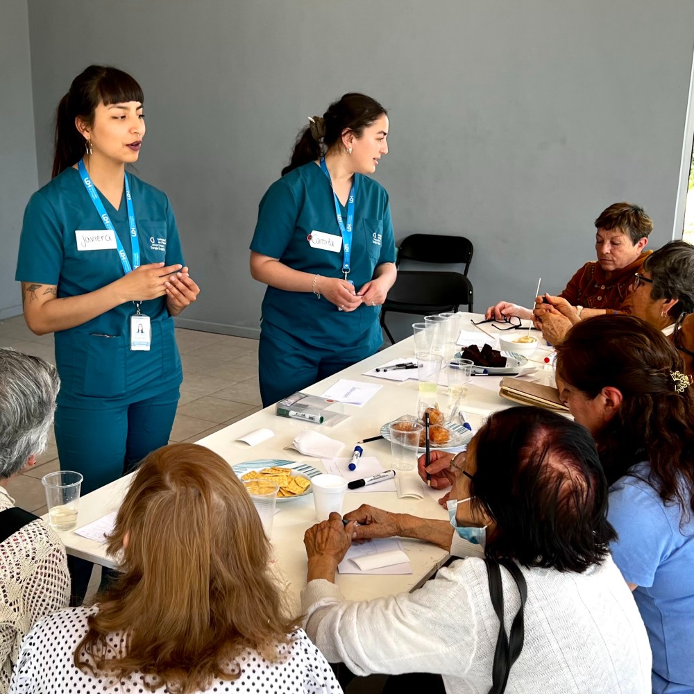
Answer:
POLYGON ((0 348, 0 479, 46 448, 60 378, 39 357, 0 348))

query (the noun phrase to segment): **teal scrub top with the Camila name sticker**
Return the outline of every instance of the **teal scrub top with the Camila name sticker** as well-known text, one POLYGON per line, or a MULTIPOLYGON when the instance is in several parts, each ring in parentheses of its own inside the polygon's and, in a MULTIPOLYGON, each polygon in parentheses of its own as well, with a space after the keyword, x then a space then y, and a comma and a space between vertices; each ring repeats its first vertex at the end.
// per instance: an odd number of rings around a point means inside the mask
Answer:
MULTIPOLYGON (((359 291, 373 279, 376 267, 395 262, 395 242, 388 194, 375 180, 362 174, 355 196, 355 217, 348 279, 359 291)), ((321 167, 309 162, 290 171, 270 186, 260 201, 251 251, 278 258, 294 270, 344 278, 339 252, 312 248, 308 236, 320 231, 341 237, 330 181, 321 167)), ((342 218, 346 208, 342 205, 342 218)), ((262 330, 292 336, 319 348, 381 344, 380 307, 361 305, 341 312, 325 298, 306 291, 268 287, 262 303, 262 330)))

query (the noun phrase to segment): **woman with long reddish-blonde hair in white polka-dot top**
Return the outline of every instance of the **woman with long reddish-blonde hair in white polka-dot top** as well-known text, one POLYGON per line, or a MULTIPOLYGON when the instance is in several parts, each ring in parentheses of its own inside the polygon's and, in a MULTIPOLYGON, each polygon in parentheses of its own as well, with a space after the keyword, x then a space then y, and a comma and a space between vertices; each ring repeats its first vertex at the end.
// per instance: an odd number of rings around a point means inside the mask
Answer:
POLYGON ((340 691, 286 616, 257 511, 216 453, 177 443, 147 456, 108 550, 122 573, 93 607, 29 632, 10 692, 340 691))

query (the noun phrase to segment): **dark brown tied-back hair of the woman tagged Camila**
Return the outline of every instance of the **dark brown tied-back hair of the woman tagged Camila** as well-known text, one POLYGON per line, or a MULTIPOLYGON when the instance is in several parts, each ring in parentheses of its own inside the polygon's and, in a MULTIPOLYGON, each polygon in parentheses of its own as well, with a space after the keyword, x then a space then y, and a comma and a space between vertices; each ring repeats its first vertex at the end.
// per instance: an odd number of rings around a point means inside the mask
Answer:
POLYGON ((325 153, 340 142, 344 130, 351 130, 356 137, 362 137, 364 128, 368 128, 382 115, 387 115, 378 101, 371 99, 366 94, 350 92, 344 94, 339 101, 328 106, 323 114, 322 127, 307 126, 296 138, 294 152, 291 153, 291 161, 282 169, 282 176, 289 174, 303 164, 313 162, 321 158, 325 153), (321 132, 316 137, 317 131, 321 132))

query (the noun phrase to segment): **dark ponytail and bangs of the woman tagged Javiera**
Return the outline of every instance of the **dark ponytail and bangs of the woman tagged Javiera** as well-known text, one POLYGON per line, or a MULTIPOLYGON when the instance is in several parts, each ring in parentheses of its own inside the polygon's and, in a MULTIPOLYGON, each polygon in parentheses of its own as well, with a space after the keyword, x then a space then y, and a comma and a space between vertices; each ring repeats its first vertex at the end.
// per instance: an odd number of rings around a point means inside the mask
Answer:
POLYGON ((108 106, 126 101, 143 103, 142 87, 135 78, 116 67, 90 65, 74 78, 56 112, 56 153, 51 178, 56 178, 84 156, 85 138, 77 129, 75 119, 79 117, 91 125, 94 110, 100 103, 108 106))

